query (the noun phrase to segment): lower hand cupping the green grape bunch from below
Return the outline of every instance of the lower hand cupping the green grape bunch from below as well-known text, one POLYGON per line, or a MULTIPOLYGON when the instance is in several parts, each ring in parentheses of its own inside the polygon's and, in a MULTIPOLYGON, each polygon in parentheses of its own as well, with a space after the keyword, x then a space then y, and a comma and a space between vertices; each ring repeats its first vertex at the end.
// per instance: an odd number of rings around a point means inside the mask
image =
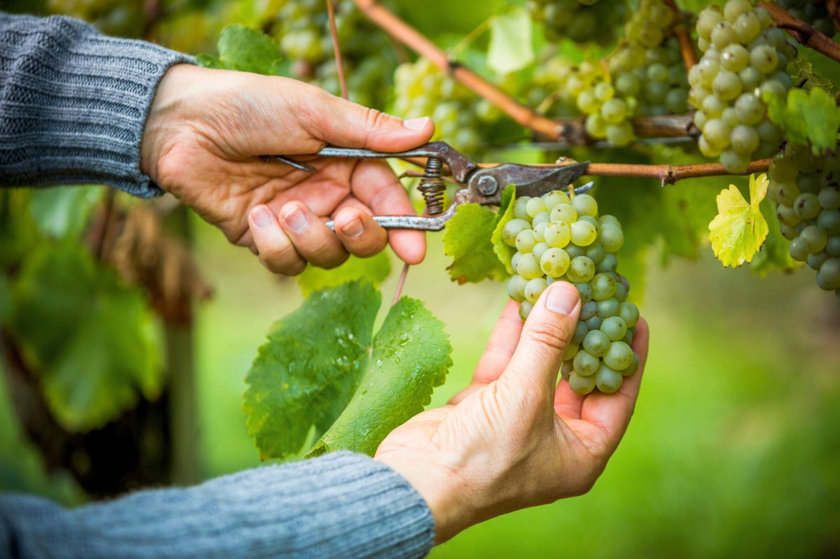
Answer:
POLYGON ((639 320, 633 339, 638 372, 615 394, 581 396, 556 382, 579 314, 580 295, 565 282, 549 285, 524 325, 508 303, 472 384, 377 449, 375 459, 426 500, 438 543, 494 516, 584 494, 603 472, 633 415, 648 325, 639 320))

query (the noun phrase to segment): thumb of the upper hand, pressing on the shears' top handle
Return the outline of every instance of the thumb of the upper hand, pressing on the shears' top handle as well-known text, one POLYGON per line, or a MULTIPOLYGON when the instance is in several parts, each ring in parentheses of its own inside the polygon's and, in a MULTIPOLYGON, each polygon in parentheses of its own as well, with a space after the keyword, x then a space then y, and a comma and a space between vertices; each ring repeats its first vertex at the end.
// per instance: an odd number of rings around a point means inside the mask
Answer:
POLYGON ((342 148, 405 151, 427 143, 434 133, 428 117, 402 120, 330 94, 319 103, 318 110, 308 112, 309 133, 342 148))

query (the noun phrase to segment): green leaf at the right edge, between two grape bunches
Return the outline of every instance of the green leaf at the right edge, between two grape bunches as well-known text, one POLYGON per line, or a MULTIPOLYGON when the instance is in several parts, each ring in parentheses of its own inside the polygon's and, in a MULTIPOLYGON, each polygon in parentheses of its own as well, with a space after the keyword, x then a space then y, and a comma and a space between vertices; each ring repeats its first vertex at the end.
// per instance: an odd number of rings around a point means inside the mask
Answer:
POLYGON ((785 98, 769 91, 764 93, 771 121, 785 130, 795 144, 811 144, 815 153, 837 147, 840 108, 826 91, 791 89, 785 98))

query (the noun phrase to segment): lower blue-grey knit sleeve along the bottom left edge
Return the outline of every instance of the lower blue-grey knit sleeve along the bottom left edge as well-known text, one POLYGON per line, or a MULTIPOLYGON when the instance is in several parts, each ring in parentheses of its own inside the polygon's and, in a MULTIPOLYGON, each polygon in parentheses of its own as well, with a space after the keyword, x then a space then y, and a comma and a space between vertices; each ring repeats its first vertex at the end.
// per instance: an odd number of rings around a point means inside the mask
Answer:
POLYGON ((78 509, 0 496, 0 556, 18 559, 412 559, 433 530, 404 478, 350 452, 78 509))

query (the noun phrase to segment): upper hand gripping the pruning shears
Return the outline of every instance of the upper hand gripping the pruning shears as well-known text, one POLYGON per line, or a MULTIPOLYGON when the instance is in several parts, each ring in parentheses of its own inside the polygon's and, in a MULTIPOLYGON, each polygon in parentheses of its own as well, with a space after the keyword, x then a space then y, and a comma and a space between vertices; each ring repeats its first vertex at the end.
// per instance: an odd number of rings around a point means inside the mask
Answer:
POLYGON ((273 272, 298 274, 307 262, 332 268, 388 242, 418 264, 422 232, 386 232, 371 218, 414 213, 384 162, 309 159, 310 174, 259 156, 313 154, 325 144, 403 151, 433 130, 428 118, 403 122, 301 81, 174 65, 152 102, 140 167, 273 272))

